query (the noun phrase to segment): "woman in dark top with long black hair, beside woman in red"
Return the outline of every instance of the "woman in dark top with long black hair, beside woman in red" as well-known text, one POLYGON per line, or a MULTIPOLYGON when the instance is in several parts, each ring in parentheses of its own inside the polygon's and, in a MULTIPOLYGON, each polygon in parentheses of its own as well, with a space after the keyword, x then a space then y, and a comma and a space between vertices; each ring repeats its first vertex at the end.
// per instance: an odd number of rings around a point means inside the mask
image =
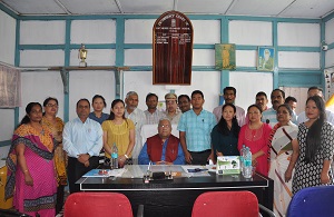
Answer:
POLYGON ((238 135, 240 127, 236 119, 236 108, 233 103, 225 103, 222 118, 212 131, 212 145, 215 160, 217 156, 238 156, 238 135))

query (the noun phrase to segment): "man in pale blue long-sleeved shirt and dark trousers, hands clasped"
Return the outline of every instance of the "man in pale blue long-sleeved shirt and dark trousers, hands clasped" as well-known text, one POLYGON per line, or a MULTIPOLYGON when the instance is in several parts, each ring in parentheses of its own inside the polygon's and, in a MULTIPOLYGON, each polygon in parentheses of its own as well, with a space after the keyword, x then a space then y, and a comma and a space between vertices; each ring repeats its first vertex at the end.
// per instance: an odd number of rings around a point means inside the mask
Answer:
POLYGON ((78 118, 67 122, 62 132, 63 150, 68 154, 68 181, 70 193, 79 191, 75 183, 82 175, 99 165, 99 152, 104 146, 102 128, 99 122, 88 118, 88 99, 77 102, 78 118))

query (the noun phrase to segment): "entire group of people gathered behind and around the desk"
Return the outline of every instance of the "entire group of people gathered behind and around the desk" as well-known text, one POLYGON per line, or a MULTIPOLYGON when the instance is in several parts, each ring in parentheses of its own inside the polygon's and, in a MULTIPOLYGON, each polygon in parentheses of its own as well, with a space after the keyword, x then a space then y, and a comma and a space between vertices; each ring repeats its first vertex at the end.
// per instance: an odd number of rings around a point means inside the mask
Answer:
POLYGON ((274 179, 274 210, 278 216, 285 215, 299 189, 333 185, 334 115, 325 109, 322 89, 308 89, 305 111, 298 116, 294 110, 296 99, 285 99, 281 89, 271 93, 272 108, 267 108, 267 96, 261 91, 247 112, 235 105, 234 87, 223 91, 225 103, 213 112, 203 108, 200 90, 190 97, 167 93, 165 112, 157 108, 157 95, 146 96, 147 110, 143 111, 138 93, 130 91, 125 101, 111 102, 110 114, 104 114, 106 100, 96 95, 94 111, 89 100, 80 99, 78 118, 66 125, 56 116, 57 99, 46 99, 43 108, 30 102, 7 159, 6 197, 13 196, 19 211, 55 216, 63 204, 63 187, 69 184, 70 193, 79 191, 75 183, 98 167, 101 150, 110 158, 114 144, 120 167, 149 162, 206 165, 215 162, 217 156, 238 156, 245 145, 250 148, 256 171, 274 179), (140 130, 146 124, 157 125, 157 134, 143 144, 140 130), (179 135, 171 135, 173 125, 177 125, 179 135))

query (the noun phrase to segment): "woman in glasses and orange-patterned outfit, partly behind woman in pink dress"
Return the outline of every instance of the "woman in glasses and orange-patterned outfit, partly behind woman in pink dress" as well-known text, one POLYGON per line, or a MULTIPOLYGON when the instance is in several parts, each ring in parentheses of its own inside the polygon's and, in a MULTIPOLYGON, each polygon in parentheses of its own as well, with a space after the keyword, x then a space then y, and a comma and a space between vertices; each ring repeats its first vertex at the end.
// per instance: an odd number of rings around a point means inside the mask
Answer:
POLYGON ((43 101, 45 112, 42 117, 42 126, 48 127, 52 132, 55 142, 57 142, 57 148, 55 149, 55 168, 57 174, 57 204, 56 204, 56 215, 59 214, 63 205, 63 189, 67 186, 67 155, 62 149, 62 130, 63 121, 61 118, 57 117, 58 112, 58 100, 56 98, 49 97, 43 101))

